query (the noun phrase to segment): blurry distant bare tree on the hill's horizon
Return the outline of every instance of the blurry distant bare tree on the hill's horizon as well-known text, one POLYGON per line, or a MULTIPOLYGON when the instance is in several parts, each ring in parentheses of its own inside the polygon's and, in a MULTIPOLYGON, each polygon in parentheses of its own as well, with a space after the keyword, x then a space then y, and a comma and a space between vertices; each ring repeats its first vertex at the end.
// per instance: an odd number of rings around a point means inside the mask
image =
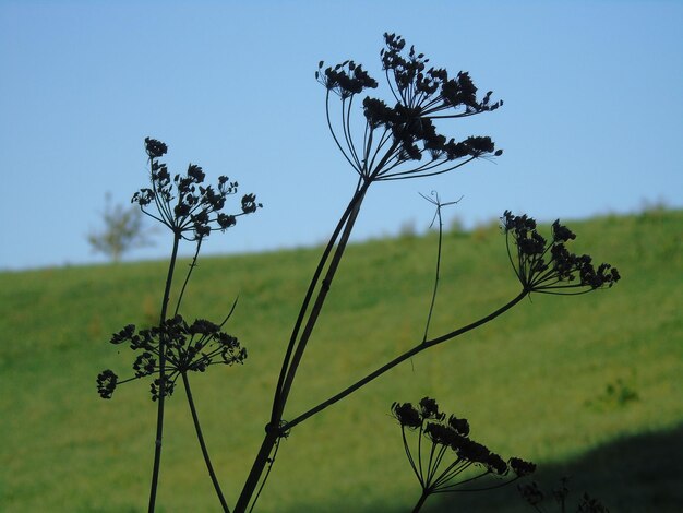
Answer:
POLYGON ((106 254, 111 261, 119 262, 123 253, 133 248, 152 246, 143 234, 143 215, 134 205, 111 204, 111 194, 105 196, 105 211, 101 213, 104 227, 91 231, 87 241, 93 250, 106 254))

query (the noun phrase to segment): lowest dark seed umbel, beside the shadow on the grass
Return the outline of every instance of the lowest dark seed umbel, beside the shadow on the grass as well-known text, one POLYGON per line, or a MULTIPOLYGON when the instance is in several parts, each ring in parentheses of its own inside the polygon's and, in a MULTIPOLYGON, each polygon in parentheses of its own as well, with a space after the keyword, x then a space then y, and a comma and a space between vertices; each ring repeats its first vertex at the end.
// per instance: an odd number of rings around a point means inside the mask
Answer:
POLYGON ((512 478, 478 489, 489 490, 536 469, 536 465, 518 457, 505 462, 486 445, 471 440, 467 419, 454 415, 446 417, 432 398, 422 398, 417 407, 410 403, 394 403, 392 416, 400 425, 406 456, 422 488, 422 497, 414 511, 418 511, 432 493, 472 491, 472 488, 462 486, 489 475, 503 478, 512 472, 512 478), (411 450, 406 430, 417 432, 417 451, 415 443, 411 450), (470 468, 478 469, 478 473, 464 476, 463 473, 470 468))

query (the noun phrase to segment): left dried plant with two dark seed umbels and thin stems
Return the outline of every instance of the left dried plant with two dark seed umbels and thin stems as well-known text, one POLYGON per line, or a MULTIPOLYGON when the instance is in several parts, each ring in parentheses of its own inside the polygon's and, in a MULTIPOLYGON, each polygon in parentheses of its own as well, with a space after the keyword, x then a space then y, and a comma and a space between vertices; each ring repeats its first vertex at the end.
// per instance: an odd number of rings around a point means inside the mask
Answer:
POLYGON ((161 298, 161 313, 157 327, 136 332, 135 326, 129 324, 112 335, 111 344, 128 343, 132 350, 139 351, 133 362, 134 377, 119 381, 113 371, 105 370, 97 377, 97 390, 101 397, 111 398, 117 385, 147 375, 154 377, 151 393, 152 399, 158 404, 158 409, 148 506, 149 511, 154 511, 161 461, 164 404, 166 397, 173 393, 176 381, 181 378, 206 467, 220 504, 227 511, 228 504, 220 490, 204 442, 188 374, 191 371, 204 372, 209 366, 216 363, 228 366, 241 363, 247 358, 247 351, 240 346, 238 339, 221 331, 230 319, 237 300, 219 324, 204 319, 196 319, 188 324, 179 311, 185 287, 196 265, 202 241, 213 230, 225 231, 235 226, 237 217, 251 214, 262 205, 256 203, 254 194, 245 194, 241 199, 241 212, 226 214, 221 211, 226 206, 228 196, 237 193, 237 182, 231 182, 227 177, 221 176, 218 178, 216 188, 203 186, 205 174, 200 166, 194 164, 188 166, 184 175, 178 174, 171 178, 166 164, 159 162, 159 158, 168 151, 166 144, 147 138, 145 139, 145 150, 149 159, 152 188, 141 189, 133 195, 132 202, 137 203, 146 215, 166 226, 173 238, 161 298), (194 243, 196 250, 180 289, 173 314, 169 317, 168 302, 181 240, 194 243))

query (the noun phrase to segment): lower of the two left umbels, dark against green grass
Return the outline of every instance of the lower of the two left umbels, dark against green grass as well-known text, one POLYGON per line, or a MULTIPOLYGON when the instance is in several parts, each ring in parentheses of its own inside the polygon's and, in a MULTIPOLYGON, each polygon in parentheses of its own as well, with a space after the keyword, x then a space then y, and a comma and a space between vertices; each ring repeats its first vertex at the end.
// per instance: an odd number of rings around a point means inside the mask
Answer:
MULTIPOLYGON (((227 321, 227 319, 226 319, 227 321)), ((224 321, 225 323, 225 321, 224 321)), ((239 341, 221 331, 223 324, 214 324, 197 319, 188 324, 181 315, 168 319, 161 327, 135 331, 132 324, 111 336, 111 344, 129 343, 130 348, 137 353, 133 361, 134 377, 119 381, 111 370, 105 370, 97 377, 97 391, 103 398, 111 398, 118 384, 133 381, 146 375, 159 373, 159 341, 164 336, 166 354, 165 395, 173 393, 178 378, 191 371, 204 372, 213 365, 243 363, 247 349, 239 341)), ((159 379, 151 385, 152 399, 159 398, 159 379)))

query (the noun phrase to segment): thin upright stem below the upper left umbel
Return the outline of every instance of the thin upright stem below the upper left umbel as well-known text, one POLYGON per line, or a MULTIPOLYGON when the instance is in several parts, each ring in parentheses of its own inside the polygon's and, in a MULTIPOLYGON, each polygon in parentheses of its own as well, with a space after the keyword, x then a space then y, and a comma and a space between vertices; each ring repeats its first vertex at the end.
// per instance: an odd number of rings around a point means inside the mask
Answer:
POLYGON ((171 283, 173 282, 173 270, 178 258, 178 246, 180 234, 173 234, 173 249, 171 251, 168 275, 166 276, 166 287, 164 299, 161 300, 161 314, 159 315, 159 398, 157 399, 156 416, 156 440, 154 448, 154 467, 152 469, 152 485, 149 487, 149 506, 147 511, 154 512, 156 504, 156 490, 159 482, 159 468, 161 464, 161 439, 164 436, 164 399, 166 396, 166 334, 164 323, 166 322, 166 311, 168 309, 168 298, 170 297, 171 283))

